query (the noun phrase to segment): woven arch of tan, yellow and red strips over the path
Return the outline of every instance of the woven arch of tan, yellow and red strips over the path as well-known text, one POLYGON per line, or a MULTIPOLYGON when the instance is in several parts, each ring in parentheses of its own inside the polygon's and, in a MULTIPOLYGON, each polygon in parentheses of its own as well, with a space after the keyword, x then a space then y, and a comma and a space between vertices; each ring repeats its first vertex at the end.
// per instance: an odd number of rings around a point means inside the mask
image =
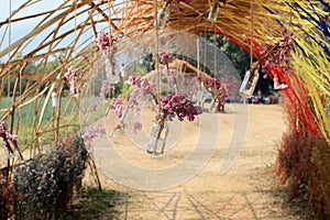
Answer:
MULTIPOLYGON (((58 140, 61 131, 77 125, 79 99, 69 97, 64 110, 56 107, 43 123, 54 90, 65 95, 64 74, 69 66, 80 73, 80 86, 87 81, 94 64, 102 56, 96 45, 98 32, 109 30, 121 40, 143 37, 154 31, 155 14, 169 3, 165 30, 193 34, 222 34, 262 59, 264 52, 280 41, 283 30, 294 33, 293 69, 267 69, 289 87, 284 95, 292 106, 293 121, 302 121, 302 130, 330 140, 329 122, 329 3, 322 0, 219 0, 216 22, 208 20, 209 0, 26 0, 21 6, 10 1, 8 18, 0 21, 0 121, 7 120, 12 133, 29 135, 26 147, 38 146, 43 136, 58 140), (30 25, 31 24, 31 25, 30 25), (18 31, 26 25, 26 32, 18 31), (31 64, 35 68, 29 69, 31 64), (23 80, 28 86, 20 86, 23 80), (11 84, 12 82, 12 84, 11 84), (11 92, 4 95, 4 86, 11 92), (4 105, 4 98, 11 99, 4 105), (74 106, 74 107, 73 107, 74 106), (20 119, 22 110, 33 116, 20 119)), ((160 30, 162 33, 162 30, 160 30)), ((62 107, 63 109, 63 107, 62 107)), ((299 130, 299 128, 297 128, 299 130)), ((22 139, 20 136, 20 139, 22 139)), ((23 143, 23 139, 20 141, 23 143)))

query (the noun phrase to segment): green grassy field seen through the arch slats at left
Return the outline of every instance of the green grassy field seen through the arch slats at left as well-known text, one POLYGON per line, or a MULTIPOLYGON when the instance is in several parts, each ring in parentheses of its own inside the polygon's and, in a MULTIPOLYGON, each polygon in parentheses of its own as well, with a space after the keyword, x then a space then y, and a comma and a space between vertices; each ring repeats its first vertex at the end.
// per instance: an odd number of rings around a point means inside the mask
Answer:
MULTIPOLYGON (((30 98, 31 99, 31 98, 30 98)), ((29 101, 30 99, 26 99, 24 102, 29 101)), ((31 141, 35 140, 36 133, 35 130, 33 129, 33 119, 36 120, 36 123, 41 120, 41 111, 43 109, 45 98, 41 97, 36 100, 38 102, 38 108, 37 108, 37 114, 35 117, 35 101, 22 107, 21 109, 15 109, 15 114, 14 114, 14 129, 13 133, 19 134, 19 146, 20 147, 25 147, 31 141), (18 124, 18 119, 20 119, 20 127, 19 131, 16 132, 16 124, 18 124)), ((82 108, 85 106, 92 106, 94 103, 98 103, 99 99, 94 97, 89 99, 85 99, 82 105, 82 108), (85 105, 85 106, 84 106, 85 105)), ((6 109, 8 107, 12 106, 12 99, 10 97, 2 97, 1 100, 1 107, 0 109, 6 109)), ((106 109, 109 106, 109 101, 106 102, 105 105, 99 105, 99 108, 97 111, 90 112, 88 120, 85 121, 85 125, 91 124, 98 119, 100 119, 102 116, 105 116, 106 109)), ((4 112, 0 113, 0 118, 4 112)), ((56 123, 55 120, 52 120, 53 118, 53 107, 52 107, 52 100, 46 106, 44 116, 41 120, 41 128, 38 131, 48 131, 48 132, 43 132, 41 133, 41 138, 43 143, 50 142, 54 138, 54 132, 50 131, 54 128, 56 123)), ((10 124, 10 117, 7 117, 7 123, 10 124)), ((61 125, 65 125, 65 128, 59 129, 59 135, 61 134, 67 134, 72 133, 74 131, 77 131, 79 129, 79 108, 75 101, 75 99, 70 99, 67 97, 63 97, 61 100, 61 112, 59 112, 59 123, 61 125), (70 101, 69 103, 67 103, 70 101), (67 106, 68 105, 68 106, 67 106), (67 108, 66 108, 67 106, 67 108), (78 117, 78 118, 77 118, 78 117), (68 127, 69 125, 69 127, 68 127)))

